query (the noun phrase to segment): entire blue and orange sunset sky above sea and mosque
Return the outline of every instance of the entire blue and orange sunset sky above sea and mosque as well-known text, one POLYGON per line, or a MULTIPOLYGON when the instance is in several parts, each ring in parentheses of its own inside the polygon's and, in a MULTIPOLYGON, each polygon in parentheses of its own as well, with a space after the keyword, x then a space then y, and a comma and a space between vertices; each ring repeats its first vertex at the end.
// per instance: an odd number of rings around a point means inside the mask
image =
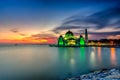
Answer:
POLYGON ((119 0, 0 0, 0 43, 55 43, 71 30, 120 39, 119 0))

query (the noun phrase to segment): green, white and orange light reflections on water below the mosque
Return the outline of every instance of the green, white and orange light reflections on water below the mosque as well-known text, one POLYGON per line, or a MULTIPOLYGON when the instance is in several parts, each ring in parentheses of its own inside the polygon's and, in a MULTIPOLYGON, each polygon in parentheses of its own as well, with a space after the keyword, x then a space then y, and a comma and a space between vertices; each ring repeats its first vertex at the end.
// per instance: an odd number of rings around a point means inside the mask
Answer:
MULTIPOLYGON (((59 59, 62 65, 76 70, 79 68, 102 69, 109 66, 116 67, 117 57, 115 48, 80 47, 58 48, 59 59), (108 53, 105 53, 108 51, 108 53), (106 64, 106 61, 108 62, 106 64), (88 67, 89 66, 89 67, 88 67)), ((79 70, 79 69, 78 69, 79 70)), ((81 69, 80 69, 81 70, 81 69)))

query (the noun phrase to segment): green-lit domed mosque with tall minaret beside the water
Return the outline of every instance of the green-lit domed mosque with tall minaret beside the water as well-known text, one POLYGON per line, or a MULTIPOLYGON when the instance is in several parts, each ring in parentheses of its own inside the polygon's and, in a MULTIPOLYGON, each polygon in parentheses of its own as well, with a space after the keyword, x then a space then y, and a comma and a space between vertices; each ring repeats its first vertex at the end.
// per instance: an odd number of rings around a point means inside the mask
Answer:
POLYGON ((85 29, 85 38, 82 35, 77 38, 70 30, 64 36, 60 35, 58 38, 58 46, 81 46, 86 45, 87 42, 87 29, 85 29))

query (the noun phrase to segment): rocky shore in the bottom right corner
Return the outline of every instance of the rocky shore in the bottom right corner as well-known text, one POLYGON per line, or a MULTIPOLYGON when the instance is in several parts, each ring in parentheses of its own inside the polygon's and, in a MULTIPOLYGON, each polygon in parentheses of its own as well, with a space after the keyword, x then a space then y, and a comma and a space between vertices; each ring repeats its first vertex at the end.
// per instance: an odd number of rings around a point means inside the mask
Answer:
POLYGON ((66 80, 120 80, 120 69, 103 69, 66 80))

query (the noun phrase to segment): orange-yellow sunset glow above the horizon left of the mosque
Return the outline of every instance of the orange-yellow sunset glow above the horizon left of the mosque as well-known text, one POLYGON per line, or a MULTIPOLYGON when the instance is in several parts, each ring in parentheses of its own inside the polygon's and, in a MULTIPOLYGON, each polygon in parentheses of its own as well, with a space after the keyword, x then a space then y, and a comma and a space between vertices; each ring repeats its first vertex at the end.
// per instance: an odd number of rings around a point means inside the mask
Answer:
MULTIPOLYGON (((48 29, 39 29, 39 27, 33 26, 28 27, 22 25, 13 25, 20 28, 10 28, 8 25, 4 25, 0 29, 0 43, 52 43, 54 42, 51 40, 51 36, 53 32, 49 31, 48 29), (15 30, 16 32, 12 31, 15 30), (48 36, 47 36, 48 35, 48 36)), ((28 25, 27 25, 28 26, 28 25)), ((56 35, 55 35, 56 36, 56 35)))

